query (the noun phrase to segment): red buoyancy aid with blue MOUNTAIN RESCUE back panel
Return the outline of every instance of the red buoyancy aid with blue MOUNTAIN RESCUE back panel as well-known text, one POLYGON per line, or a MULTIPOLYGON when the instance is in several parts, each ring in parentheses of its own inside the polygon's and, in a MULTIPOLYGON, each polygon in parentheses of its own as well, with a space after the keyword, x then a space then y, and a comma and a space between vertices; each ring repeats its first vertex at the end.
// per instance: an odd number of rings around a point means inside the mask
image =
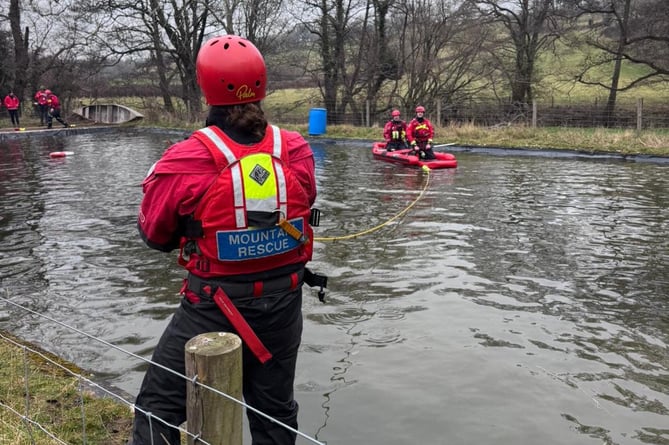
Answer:
POLYGON ((194 137, 209 149, 220 173, 181 240, 180 264, 198 276, 221 277, 311 260, 309 197, 287 167, 282 131, 268 126, 253 146, 238 144, 215 126, 194 137), (284 220, 303 238, 278 225, 284 220))

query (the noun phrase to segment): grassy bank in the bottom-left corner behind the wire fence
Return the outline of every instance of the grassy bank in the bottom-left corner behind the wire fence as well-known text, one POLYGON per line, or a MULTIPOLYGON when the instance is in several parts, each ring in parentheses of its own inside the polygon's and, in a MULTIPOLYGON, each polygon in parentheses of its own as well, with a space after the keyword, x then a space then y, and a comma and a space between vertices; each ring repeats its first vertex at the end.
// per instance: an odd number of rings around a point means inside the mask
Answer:
POLYGON ((0 331, 0 443, 123 445, 127 405, 80 387, 86 372, 0 331), (25 417, 24 417, 25 416, 25 417), (84 420, 85 419, 85 420, 84 420))

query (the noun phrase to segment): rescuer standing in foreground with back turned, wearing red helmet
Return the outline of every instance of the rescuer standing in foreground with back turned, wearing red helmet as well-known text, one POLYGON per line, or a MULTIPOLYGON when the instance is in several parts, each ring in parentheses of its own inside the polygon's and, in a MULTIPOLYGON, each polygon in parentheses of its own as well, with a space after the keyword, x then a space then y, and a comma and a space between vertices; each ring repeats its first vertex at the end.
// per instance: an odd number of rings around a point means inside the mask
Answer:
MULTIPOLYGON (((188 275, 137 395, 132 445, 152 437, 179 445, 177 429, 150 417, 186 420, 186 381, 163 367, 184 374, 186 342, 207 332, 239 335, 245 402, 297 430, 293 383, 313 249, 313 153, 299 133, 268 124, 260 104, 267 70, 250 41, 205 42, 196 76, 210 106, 207 127, 169 147, 142 184, 142 239, 164 252, 179 248, 188 275), (286 222, 302 236, 290 235, 286 222)), ((251 410, 247 416, 254 445, 295 443, 289 429, 251 410)))

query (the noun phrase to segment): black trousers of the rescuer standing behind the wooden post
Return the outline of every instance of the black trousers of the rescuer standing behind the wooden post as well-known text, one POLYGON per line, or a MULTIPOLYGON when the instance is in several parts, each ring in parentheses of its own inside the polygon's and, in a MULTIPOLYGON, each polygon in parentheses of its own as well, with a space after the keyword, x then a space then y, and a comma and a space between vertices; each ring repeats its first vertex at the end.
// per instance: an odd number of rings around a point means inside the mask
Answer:
MULTIPOLYGON (((297 351, 302 337, 302 287, 292 291, 233 299, 237 309, 272 358, 264 365, 243 346, 243 394, 249 406, 297 429, 298 404, 293 383, 297 351)), ((234 332, 216 304, 204 299, 182 299, 153 353, 153 361, 181 374, 185 372, 184 347, 191 338, 206 332, 234 332)), ((135 405, 172 425, 186 420, 186 381, 151 365, 144 376, 135 405)), ((253 445, 294 445, 296 434, 247 410, 253 445)), ((225 419, 223 419, 225 421, 225 419)), ((179 445, 175 428, 151 420, 154 443, 179 445), (167 440, 165 442, 163 437, 167 440)), ((132 445, 150 445, 146 415, 135 411, 132 445)))

